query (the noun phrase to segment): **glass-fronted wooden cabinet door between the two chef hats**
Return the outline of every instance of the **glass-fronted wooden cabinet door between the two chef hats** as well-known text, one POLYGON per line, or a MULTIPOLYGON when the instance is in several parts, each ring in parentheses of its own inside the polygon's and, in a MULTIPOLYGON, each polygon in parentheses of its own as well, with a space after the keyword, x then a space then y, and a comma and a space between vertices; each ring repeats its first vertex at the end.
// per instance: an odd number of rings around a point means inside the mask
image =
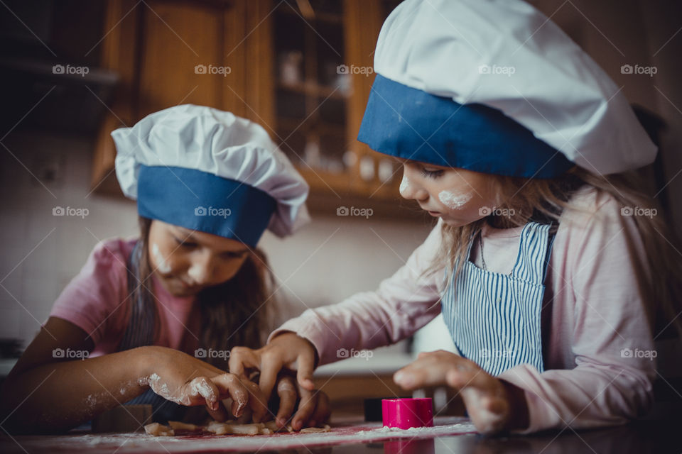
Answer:
POLYGON ((310 0, 276 4, 272 14, 275 137, 311 198, 327 196, 327 205, 348 197, 392 202, 398 194, 396 162, 357 141, 374 46, 392 3, 310 0))

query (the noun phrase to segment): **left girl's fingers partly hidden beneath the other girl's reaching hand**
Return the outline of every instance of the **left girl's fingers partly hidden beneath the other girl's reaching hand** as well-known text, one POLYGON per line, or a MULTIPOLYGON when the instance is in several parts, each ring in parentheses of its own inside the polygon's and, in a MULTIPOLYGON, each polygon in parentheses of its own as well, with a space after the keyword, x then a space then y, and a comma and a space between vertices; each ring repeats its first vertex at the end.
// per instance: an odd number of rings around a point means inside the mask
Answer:
POLYGON ((310 391, 301 387, 291 375, 280 375, 276 385, 279 408, 275 421, 283 427, 296 409, 296 399, 301 397, 298 411, 293 415, 291 426, 301 430, 306 426, 316 426, 329 419, 331 409, 329 397, 320 390, 310 391))

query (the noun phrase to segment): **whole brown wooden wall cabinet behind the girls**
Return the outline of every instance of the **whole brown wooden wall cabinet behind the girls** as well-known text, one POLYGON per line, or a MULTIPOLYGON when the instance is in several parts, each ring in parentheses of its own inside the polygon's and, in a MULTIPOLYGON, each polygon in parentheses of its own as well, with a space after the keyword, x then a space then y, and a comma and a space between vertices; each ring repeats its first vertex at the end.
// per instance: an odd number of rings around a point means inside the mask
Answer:
POLYGON ((118 192, 113 129, 202 104, 264 126, 309 182, 313 211, 410 216, 397 164, 356 140, 374 45, 397 3, 109 0, 102 66, 121 84, 99 132, 93 187, 118 192))

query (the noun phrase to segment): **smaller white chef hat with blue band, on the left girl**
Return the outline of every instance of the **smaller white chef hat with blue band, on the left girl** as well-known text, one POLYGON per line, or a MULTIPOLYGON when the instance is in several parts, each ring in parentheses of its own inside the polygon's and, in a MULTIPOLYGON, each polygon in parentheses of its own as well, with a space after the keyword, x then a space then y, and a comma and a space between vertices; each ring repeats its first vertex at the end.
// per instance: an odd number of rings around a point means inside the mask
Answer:
POLYGON ((183 105, 112 132, 116 175, 141 216, 256 245, 309 221, 308 184, 261 126, 183 105))

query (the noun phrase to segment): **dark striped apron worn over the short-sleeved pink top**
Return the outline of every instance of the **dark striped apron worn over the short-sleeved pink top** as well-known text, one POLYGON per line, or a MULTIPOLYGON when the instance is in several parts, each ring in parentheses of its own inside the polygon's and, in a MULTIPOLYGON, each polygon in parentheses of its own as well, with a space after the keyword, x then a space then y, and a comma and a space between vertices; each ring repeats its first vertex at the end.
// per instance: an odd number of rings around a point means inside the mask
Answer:
MULTIPOLYGON (((134 289, 139 284, 139 262, 141 247, 138 242, 128 259, 128 294, 134 294, 134 289)), ((131 301, 130 320, 123 334, 118 351, 131 348, 153 345, 154 342, 154 301, 145 301, 138 298, 131 301)), ((124 405, 148 404, 152 406, 152 419, 154 422, 166 423, 183 419, 187 406, 175 404, 147 389, 146 392, 126 402, 124 405)))

